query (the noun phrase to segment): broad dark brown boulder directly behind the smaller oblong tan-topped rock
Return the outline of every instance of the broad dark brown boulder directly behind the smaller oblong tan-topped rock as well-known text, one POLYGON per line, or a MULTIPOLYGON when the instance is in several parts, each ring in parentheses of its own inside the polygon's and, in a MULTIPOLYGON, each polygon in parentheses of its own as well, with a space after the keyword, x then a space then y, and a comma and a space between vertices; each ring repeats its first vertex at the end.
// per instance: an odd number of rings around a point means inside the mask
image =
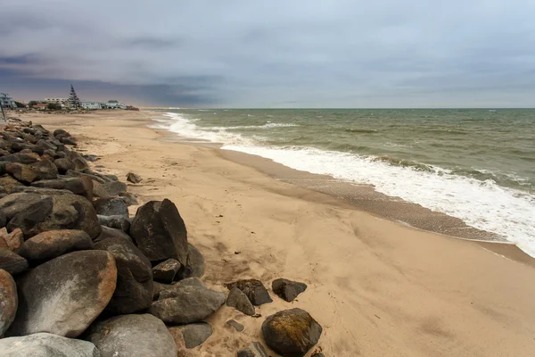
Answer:
POLYGON ((80 195, 55 195, 34 203, 27 211, 19 212, 7 225, 8 230, 21 228, 25 237, 54 229, 80 229, 96 238, 101 226, 95 208, 80 195))

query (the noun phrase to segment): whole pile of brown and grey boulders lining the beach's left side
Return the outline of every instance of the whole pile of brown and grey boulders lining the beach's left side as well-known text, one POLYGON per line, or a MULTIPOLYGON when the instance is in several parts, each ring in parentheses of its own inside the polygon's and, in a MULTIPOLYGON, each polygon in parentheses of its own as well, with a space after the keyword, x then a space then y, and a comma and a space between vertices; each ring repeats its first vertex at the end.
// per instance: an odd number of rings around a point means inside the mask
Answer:
MULTIPOLYGON (((223 284, 205 286, 177 206, 151 201, 130 217, 137 202, 127 185, 92 170, 96 157, 76 146, 63 129, 21 120, 0 128, 0 357, 194 355, 213 331, 203 320, 223 304, 259 317, 254 306, 272 302, 255 279, 227 284, 228 296, 223 284)), ((273 282, 286 301, 305 289, 273 282)), ((293 309, 261 331, 276 353, 301 356, 322 328, 293 309)), ((253 342, 226 355, 268 354, 253 342)))

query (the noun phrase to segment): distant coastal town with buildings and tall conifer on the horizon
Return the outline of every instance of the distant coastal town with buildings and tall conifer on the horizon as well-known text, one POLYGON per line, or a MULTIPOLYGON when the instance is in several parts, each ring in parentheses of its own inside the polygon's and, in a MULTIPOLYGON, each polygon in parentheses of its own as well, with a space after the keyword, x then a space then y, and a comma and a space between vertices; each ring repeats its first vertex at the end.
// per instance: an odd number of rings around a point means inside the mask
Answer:
POLYGON ((50 97, 39 100, 30 100, 28 103, 24 100, 13 99, 8 93, 0 93, 0 107, 7 110, 37 110, 37 111, 95 111, 95 110, 131 110, 137 111, 138 108, 127 105, 117 100, 108 100, 107 102, 84 101, 78 98, 73 86, 70 86, 69 97, 50 97))

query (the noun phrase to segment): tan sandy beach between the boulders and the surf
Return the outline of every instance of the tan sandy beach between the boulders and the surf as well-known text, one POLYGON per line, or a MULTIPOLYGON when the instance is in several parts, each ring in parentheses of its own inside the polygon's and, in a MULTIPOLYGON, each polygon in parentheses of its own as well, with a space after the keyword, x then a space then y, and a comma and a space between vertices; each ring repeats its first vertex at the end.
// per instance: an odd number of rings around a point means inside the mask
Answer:
POLYGON ((515 246, 382 219, 228 160, 217 148, 171 142, 146 127, 154 115, 21 119, 69 129, 80 149, 102 156, 95 165, 119 178, 136 172, 144 181, 128 189, 140 203, 176 203, 190 242, 205 256, 207 285, 224 291, 222 283, 238 278, 259 278, 269 289, 275 278, 309 285, 293 303, 272 294, 274 303, 257 309, 259 319, 224 306, 210 318, 214 334, 196 354, 235 355, 262 341, 265 317, 300 307, 324 328, 317 348, 327 357, 533 355, 535 268, 515 246), (243 332, 226 326, 230 319, 243 332))

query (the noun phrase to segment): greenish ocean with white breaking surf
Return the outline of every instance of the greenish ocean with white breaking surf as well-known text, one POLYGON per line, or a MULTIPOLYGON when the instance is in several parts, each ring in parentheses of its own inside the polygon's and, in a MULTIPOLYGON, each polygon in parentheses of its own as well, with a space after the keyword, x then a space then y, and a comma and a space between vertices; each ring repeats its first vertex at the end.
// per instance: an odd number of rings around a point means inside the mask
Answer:
POLYGON ((153 128, 373 185, 535 257, 535 110, 167 110, 153 128))

